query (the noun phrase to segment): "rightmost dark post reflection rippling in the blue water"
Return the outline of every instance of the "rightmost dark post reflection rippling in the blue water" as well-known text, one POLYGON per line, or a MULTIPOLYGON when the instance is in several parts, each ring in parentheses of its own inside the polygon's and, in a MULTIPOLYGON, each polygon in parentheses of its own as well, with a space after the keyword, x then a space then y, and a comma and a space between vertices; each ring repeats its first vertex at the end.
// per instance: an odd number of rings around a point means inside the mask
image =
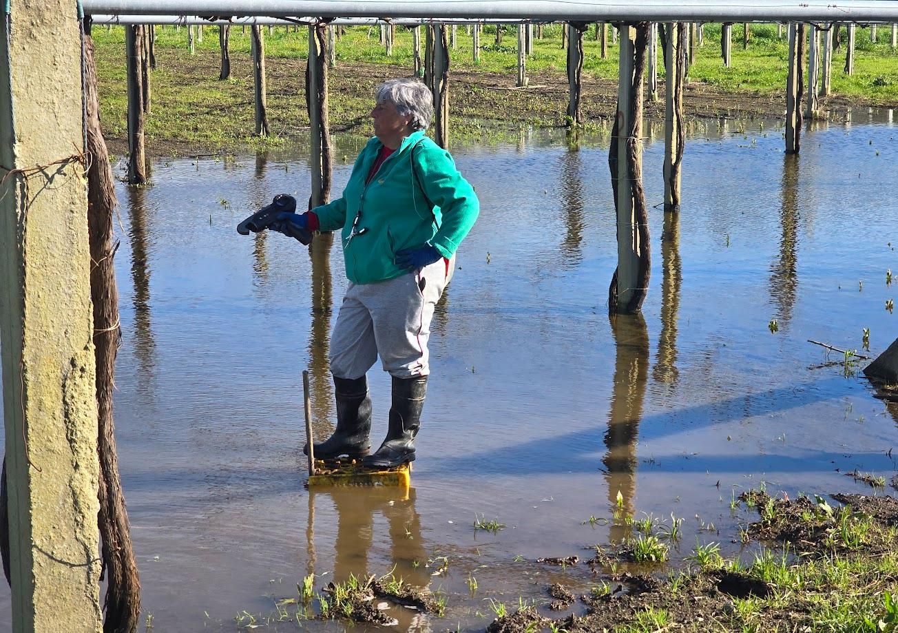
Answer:
POLYGON ((798 289, 798 171, 798 155, 785 154, 779 214, 782 237, 779 240, 779 259, 770 266, 770 299, 777 306, 777 319, 782 325, 788 324, 792 318, 798 289))

